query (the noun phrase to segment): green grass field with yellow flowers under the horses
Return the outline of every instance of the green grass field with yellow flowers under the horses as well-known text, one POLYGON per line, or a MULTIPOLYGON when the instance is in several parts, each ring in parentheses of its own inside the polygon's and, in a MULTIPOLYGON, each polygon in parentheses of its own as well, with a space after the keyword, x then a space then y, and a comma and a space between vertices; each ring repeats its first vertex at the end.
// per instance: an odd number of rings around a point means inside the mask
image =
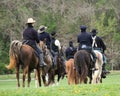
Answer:
POLYGON ((120 71, 111 72, 102 84, 68 85, 64 78, 58 86, 40 88, 34 80, 30 88, 17 88, 15 75, 0 75, 0 96, 120 96, 120 71))

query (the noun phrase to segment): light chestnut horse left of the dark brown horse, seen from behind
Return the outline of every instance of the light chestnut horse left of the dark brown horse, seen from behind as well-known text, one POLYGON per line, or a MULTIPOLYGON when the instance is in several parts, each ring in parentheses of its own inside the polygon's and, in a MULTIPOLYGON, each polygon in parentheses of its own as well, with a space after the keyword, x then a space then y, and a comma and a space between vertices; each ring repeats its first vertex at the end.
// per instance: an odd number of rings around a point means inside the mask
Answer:
POLYGON ((77 84, 76 70, 74 69, 74 59, 69 59, 68 61, 66 61, 65 65, 68 84, 77 84))

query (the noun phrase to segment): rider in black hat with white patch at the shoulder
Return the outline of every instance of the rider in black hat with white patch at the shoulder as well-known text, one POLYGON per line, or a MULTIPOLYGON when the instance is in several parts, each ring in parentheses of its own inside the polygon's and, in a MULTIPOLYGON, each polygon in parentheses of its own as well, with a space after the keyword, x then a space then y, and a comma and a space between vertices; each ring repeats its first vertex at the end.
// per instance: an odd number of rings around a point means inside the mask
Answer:
POLYGON ((51 33, 51 53, 53 56, 53 62, 54 62, 54 66, 57 65, 57 55, 59 50, 61 49, 61 45, 60 45, 60 41, 57 40, 56 38, 56 32, 52 32, 51 33))

